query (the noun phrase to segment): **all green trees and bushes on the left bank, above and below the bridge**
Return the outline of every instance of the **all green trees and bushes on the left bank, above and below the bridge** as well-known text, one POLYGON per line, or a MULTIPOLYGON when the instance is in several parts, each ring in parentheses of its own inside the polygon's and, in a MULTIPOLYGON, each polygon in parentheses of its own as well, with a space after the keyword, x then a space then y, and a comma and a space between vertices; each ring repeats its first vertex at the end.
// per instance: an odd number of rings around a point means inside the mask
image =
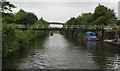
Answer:
POLYGON ((32 40, 35 38, 41 37, 44 38, 47 36, 47 32, 43 31, 33 31, 25 30, 21 31, 14 29, 13 25, 46 25, 48 22, 43 18, 39 19, 32 12, 26 12, 23 9, 20 9, 17 13, 12 13, 12 9, 16 8, 15 5, 11 4, 8 1, 0 1, 2 4, 2 56, 7 57, 9 55, 14 55, 21 49, 29 48, 29 44, 32 43, 32 40))

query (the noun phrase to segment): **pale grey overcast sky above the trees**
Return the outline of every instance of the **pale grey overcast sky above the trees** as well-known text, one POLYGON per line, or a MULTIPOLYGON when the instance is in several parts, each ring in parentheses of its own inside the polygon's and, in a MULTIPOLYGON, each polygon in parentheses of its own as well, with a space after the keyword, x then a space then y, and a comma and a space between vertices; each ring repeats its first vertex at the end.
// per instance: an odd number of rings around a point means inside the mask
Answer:
MULTIPOLYGON (((9 0, 8 0, 9 1, 9 0)), ((98 4, 114 9, 117 15, 119 0, 10 0, 18 12, 20 8, 33 12, 38 18, 43 17, 49 22, 66 22, 71 17, 77 17, 81 13, 94 12, 98 4)))

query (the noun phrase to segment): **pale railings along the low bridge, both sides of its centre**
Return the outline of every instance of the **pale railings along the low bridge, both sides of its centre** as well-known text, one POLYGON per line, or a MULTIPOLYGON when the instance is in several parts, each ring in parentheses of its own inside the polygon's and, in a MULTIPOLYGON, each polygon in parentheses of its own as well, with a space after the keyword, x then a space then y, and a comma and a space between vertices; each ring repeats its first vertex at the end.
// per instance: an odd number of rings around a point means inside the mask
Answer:
MULTIPOLYGON (((13 28, 28 28, 28 29, 50 29, 48 25, 12 25, 13 28)), ((62 29, 104 29, 109 26, 101 25, 63 25, 62 29)))

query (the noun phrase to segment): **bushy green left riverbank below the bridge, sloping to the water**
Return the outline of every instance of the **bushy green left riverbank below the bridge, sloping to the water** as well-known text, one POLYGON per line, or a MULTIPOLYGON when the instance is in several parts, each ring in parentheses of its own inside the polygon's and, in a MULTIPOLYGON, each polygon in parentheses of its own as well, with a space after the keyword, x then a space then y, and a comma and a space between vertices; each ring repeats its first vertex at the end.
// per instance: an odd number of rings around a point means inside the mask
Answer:
POLYGON ((16 30, 11 25, 4 23, 2 25, 2 56, 8 57, 29 48, 34 39, 44 38, 47 34, 47 31, 16 30))

